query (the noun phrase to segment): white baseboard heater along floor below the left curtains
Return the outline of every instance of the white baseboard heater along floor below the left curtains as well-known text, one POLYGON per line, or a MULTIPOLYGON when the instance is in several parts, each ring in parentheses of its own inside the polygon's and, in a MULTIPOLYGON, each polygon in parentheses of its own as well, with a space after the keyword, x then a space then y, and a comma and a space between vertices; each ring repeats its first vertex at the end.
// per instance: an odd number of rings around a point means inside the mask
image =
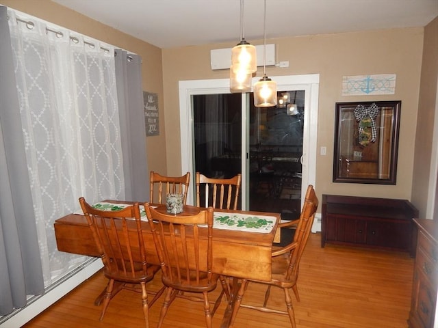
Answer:
POLYGON ((75 269, 73 275, 69 275, 65 279, 61 279, 62 282, 56 284, 52 288, 47 288, 44 295, 31 297, 25 308, 17 309, 0 318, 1 328, 16 328, 21 327, 32 318, 38 316, 42 311, 49 308, 50 305, 55 303, 58 299, 66 295, 70 290, 79 286, 86 279, 94 275, 103 267, 103 263, 100 258, 90 258, 81 267, 75 269))

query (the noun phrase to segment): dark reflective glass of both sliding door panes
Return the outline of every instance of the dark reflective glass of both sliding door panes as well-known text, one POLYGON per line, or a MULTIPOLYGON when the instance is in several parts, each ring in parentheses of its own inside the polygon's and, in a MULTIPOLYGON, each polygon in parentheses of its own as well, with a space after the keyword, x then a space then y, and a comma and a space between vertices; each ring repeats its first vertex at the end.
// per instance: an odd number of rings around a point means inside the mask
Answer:
MULTIPOLYGON (((212 178, 242 173, 245 147, 250 210, 276 212, 282 219, 300 213, 301 156, 305 92, 279 92, 279 105, 257 108, 247 94, 249 122, 247 144, 242 145, 242 95, 192 96, 194 118, 194 172, 212 178)), ((241 191, 242 193, 242 191, 241 191)), ((242 195, 240 196, 242 202, 242 195)), ((241 208, 241 206, 239 206, 241 208)))

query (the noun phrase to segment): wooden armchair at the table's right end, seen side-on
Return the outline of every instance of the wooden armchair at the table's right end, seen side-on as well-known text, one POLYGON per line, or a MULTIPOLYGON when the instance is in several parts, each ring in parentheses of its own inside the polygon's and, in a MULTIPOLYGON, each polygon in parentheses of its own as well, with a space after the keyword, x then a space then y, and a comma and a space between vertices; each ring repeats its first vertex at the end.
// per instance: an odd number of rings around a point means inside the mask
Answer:
POLYGON ((298 271, 300 269, 300 260, 303 251, 305 250, 307 240, 315 219, 316 209, 318 208, 318 197, 316 197, 315 189, 310 184, 307 187, 305 202, 302 206, 300 218, 298 219, 294 240, 285 247, 276 247, 272 249, 272 273, 270 282, 262 282, 252 279, 242 279, 235 304, 233 305, 233 313, 231 314, 230 326, 233 326, 234 320, 237 316, 239 308, 249 308, 259 310, 262 312, 271 312, 277 314, 287 314, 289 316, 292 328, 296 328, 294 308, 292 306, 292 298, 289 290, 292 288, 295 297, 300 301, 298 295, 298 288, 296 282, 298 280, 298 271), (259 284, 266 284, 268 288, 265 293, 263 305, 249 305, 242 303, 244 292, 248 287, 249 282, 257 282, 259 284), (285 295, 286 310, 278 310, 268 306, 268 299, 270 296, 270 288, 276 286, 283 289, 285 295))

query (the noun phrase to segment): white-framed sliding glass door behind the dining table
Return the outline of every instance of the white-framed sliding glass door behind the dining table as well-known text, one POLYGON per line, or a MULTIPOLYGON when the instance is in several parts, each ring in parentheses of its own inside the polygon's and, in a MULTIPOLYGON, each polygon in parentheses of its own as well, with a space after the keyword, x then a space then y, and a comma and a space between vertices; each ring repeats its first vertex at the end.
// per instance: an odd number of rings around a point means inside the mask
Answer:
POLYGON ((315 184, 319 76, 272 79, 283 103, 268 109, 250 93, 230 94, 228 79, 180 81, 181 172, 242 173, 240 208, 292 219, 302 186, 315 184))

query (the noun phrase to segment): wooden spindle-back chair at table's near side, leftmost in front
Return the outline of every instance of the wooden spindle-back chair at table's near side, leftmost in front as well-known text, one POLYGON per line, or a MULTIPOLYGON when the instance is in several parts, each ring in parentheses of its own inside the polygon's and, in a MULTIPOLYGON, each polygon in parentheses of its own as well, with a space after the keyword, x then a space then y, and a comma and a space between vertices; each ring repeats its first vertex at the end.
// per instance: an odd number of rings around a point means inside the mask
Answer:
POLYGON ((120 290, 127 289, 141 293, 144 322, 149 328, 149 307, 162 295, 164 287, 158 292, 146 292, 146 283, 160 267, 148 264, 146 260, 139 204, 110 211, 93 208, 83 197, 79 198, 79 203, 101 254, 103 274, 110 279, 100 320, 103 320, 110 300, 120 290), (148 294, 155 295, 152 301, 148 301, 148 294))

